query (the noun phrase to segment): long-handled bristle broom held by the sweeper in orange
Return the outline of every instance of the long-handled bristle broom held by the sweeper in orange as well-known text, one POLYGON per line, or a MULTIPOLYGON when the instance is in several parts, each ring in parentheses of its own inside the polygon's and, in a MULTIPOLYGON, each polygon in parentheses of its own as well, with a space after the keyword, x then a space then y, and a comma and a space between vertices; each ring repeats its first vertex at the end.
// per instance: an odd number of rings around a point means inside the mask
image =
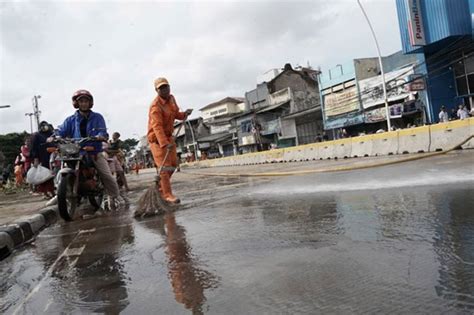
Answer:
MULTIPOLYGON (((182 124, 179 126, 176 134, 173 136, 173 140, 176 140, 176 137, 179 135, 179 132, 181 131, 181 127, 183 127, 187 118, 188 116, 186 115, 183 119, 182 124)), ((159 215, 167 211, 173 211, 176 208, 176 206, 173 206, 169 204, 168 202, 164 201, 161 198, 160 192, 159 192, 160 180, 161 180, 160 174, 161 174, 161 171, 163 170, 166 160, 168 159, 169 153, 170 153, 170 149, 166 148, 165 158, 163 159, 163 162, 161 162, 160 167, 156 168, 157 174, 155 176, 155 181, 153 185, 148 187, 145 193, 138 200, 138 206, 135 209, 135 214, 134 214, 135 217, 144 218, 146 216, 159 215)))

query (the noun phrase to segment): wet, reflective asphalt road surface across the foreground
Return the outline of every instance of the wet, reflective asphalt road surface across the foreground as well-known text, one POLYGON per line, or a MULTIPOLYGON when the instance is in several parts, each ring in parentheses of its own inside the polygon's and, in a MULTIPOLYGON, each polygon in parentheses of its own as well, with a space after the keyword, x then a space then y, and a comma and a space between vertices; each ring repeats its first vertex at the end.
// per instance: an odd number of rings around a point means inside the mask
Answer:
POLYGON ((474 154, 285 178, 180 174, 143 220, 59 222, 0 262, 0 313, 474 312, 474 154))

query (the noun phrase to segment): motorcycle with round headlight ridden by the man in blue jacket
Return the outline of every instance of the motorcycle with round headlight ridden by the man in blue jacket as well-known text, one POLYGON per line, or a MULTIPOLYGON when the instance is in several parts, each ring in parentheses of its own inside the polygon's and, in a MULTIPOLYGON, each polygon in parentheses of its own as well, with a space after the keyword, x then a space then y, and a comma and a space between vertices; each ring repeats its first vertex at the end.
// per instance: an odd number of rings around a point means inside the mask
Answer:
POLYGON ((89 152, 93 146, 86 145, 90 141, 100 141, 96 137, 81 139, 55 138, 56 147, 48 148, 48 152, 56 151, 61 166, 58 172, 57 198, 59 215, 65 221, 72 221, 82 199, 98 210, 104 197, 104 187, 94 167, 93 157, 89 152))

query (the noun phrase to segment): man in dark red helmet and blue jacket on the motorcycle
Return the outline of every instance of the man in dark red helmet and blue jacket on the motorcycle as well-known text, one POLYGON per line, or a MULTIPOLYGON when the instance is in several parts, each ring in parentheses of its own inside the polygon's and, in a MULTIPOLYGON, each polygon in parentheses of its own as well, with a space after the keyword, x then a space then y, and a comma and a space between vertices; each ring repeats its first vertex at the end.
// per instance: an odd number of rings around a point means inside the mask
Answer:
MULTIPOLYGON (((58 127, 56 135, 63 138, 97 137, 99 140, 105 141, 107 139, 107 128, 102 115, 91 110, 94 106, 92 94, 87 90, 78 90, 72 96, 72 105, 77 111, 64 120, 63 124, 58 127)), ((119 188, 117 181, 112 176, 107 160, 102 154, 99 154, 102 152, 102 143, 94 141, 86 145, 94 147, 94 151, 88 154, 92 157, 94 166, 109 196, 110 209, 116 210, 115 199, 119 196, 119 188)))

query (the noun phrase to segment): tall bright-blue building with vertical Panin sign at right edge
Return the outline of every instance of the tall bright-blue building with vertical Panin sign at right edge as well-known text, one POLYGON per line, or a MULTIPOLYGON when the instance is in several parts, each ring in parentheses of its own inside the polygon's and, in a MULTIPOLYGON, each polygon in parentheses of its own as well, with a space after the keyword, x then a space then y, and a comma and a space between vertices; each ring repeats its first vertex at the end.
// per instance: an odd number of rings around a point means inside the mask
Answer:
POLYGON ((403 52, 423 54, 428 114, 474 106, 474 0, 396 0, 403 52))

